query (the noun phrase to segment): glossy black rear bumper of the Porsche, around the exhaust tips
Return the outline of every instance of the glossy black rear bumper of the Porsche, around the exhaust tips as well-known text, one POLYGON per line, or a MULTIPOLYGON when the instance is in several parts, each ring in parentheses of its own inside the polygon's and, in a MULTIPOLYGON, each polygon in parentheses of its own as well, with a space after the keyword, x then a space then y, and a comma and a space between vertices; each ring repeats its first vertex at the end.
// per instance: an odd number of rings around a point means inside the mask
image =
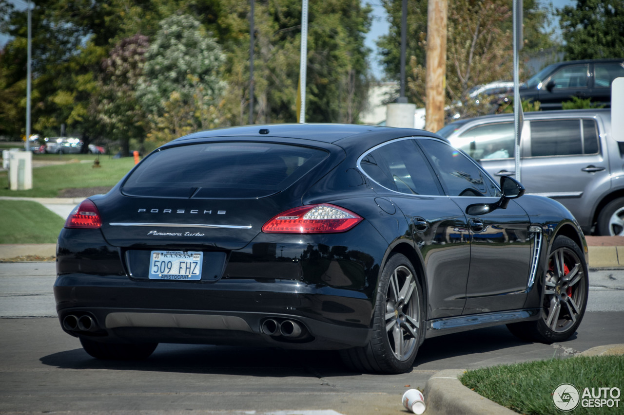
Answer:
POLYGON ((361 293, 295 281, 154 284, 74 274, 57 278, 54 296, 63 330, 100 341, 332 350, 366 345, 372 317, 361 293), (92 325, 68 328, 68 317, 90 317, 92 325), (301 333, 270 335, 263 330, 267 320, 278 329, 295 323, 301 333))

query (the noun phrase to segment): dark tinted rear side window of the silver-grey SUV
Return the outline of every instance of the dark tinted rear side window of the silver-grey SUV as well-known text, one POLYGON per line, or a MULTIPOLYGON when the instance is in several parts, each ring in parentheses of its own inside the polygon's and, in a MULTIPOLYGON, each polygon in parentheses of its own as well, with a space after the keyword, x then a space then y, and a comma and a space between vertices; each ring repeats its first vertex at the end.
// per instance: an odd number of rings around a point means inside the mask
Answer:
POLYGON ((531 122, 531 156, 571 156, 595 153, 598 153, 598 129, 595 120, 531 122))

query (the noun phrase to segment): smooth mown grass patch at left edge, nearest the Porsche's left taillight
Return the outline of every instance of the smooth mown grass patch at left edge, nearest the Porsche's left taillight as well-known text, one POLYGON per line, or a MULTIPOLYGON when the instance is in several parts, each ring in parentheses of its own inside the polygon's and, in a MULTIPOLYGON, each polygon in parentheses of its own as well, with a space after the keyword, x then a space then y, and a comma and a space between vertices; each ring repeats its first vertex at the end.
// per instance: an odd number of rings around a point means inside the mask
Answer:
POLYGON ((0 200, 0 244, 54 244, 65 221, 37 202, 0 200))

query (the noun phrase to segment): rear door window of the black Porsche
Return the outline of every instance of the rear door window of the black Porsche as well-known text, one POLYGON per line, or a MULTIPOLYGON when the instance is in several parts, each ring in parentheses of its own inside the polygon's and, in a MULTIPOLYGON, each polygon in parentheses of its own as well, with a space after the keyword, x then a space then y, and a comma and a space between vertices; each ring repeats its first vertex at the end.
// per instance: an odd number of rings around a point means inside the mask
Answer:
POLYGON ((360 168, 384 188, 406 194, 441 194, 414 140, 398 140, 365 155, 360 168))

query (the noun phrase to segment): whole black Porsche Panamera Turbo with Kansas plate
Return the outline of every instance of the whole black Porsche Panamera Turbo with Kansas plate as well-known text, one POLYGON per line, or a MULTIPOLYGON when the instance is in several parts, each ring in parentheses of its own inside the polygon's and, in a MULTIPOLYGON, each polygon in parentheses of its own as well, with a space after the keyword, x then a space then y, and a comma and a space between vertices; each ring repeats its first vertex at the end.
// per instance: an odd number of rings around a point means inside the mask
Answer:
POLYGON ((523 193, 427 131, 193 133, 67 218, 59 320, 96 358, 266 345, 385 373, 462 330, 564 340, 587 304, 587 244, 561 204, 523 193))

